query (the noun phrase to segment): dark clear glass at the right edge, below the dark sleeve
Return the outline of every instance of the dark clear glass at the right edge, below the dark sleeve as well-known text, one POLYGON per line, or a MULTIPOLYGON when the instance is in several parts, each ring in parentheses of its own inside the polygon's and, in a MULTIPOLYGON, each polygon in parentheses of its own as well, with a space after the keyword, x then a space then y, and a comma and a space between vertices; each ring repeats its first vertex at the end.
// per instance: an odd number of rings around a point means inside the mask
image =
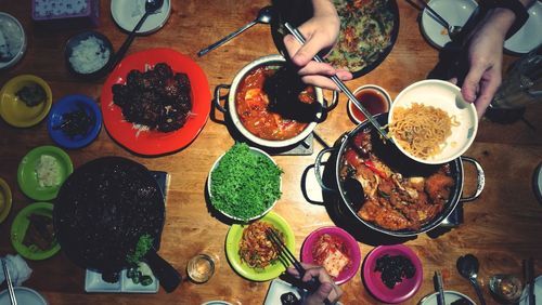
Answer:
POLYGON ((518 109, 542 102, 542 47, 520 57, 504 76, 490 107, 518 109))

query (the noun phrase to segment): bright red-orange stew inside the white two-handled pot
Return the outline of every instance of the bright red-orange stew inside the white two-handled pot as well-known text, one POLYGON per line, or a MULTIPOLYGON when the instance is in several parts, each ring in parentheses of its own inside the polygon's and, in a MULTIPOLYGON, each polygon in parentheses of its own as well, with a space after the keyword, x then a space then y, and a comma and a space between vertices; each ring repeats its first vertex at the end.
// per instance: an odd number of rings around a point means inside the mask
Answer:
MULTIPOLYGON (((235 96, 235 109, 243 125, 254 135, 270 141, 282 141, 300 134, 309 124, 270 110, 270 97, 264 82, 279 66, 261 66, 241 81, 235 96)), ((317 98, 313 87, 306 87, 297 94, 299 102, 312 104, 317 98)), ((289 103, 287 101, 286 103, 289 103)))

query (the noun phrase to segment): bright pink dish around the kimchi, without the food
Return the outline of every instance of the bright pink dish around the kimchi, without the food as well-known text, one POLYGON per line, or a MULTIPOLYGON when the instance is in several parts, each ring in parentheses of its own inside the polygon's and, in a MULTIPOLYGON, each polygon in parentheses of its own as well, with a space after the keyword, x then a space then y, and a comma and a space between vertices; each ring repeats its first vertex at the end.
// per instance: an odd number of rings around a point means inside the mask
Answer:
POLYGON ((346 230, 339 227, 322 227, 313 230, 309 236, 305 239, 304 246, 301 249, 301 262, 307 264, 314 264, 314 258, 312 257, 312 247, 318 238, 324 234, 328 234, 333 237, 337 237, 343 240, 347 248, 350 250, 350 266, 347 266, 340 271, 340 274, 335 278, 336 284, 341 284, 350 280, 361 265, 361 251, 358 246, 358 241, 348 234, 346 230))

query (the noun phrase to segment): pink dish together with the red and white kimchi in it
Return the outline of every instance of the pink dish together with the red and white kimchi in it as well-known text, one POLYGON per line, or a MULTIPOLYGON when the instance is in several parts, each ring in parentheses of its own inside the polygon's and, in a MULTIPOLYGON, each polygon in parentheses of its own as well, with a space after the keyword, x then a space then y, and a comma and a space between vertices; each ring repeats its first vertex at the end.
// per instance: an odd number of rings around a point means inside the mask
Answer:
POLYGON ((335 283, 341 284, 360 269, 361 251, 358 241, 346 230, 322 227, 305 239, 301 262, 324 267, 335 283))

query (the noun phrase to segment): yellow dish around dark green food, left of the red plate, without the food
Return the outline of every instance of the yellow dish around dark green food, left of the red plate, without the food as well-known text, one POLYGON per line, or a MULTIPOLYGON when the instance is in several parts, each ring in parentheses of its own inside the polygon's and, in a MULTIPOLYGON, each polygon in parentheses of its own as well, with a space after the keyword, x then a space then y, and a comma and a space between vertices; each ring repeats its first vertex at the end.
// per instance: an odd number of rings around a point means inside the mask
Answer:
POLYGON ((28 128, 43 120, 53 103, 53 94, 49 84, 41 78, 33 75, 22 75, 8 81, 0 91, 0 116, 11 125, 28 128), (17 91, 30 83, 39 84, 47 94, 44 102, 28 107, 18 96, 17 91))

